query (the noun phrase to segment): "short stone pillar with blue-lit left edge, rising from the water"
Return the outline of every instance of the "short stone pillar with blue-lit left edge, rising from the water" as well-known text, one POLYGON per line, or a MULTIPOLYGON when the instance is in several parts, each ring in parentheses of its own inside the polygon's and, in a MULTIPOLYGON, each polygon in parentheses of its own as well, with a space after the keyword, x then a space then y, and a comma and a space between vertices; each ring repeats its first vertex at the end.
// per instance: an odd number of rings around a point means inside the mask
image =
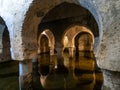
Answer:
POLYGON ((32 60, 19 62, 19 90, 32 90, 32 60))

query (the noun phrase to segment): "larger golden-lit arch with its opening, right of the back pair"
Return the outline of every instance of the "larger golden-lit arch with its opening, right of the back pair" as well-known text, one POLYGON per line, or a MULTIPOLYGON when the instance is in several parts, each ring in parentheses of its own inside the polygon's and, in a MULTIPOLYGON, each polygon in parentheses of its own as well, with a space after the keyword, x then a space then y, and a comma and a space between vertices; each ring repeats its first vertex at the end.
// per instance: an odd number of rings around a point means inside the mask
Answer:
POLYGON ((71 25, 63 34, 62 44, 63 52, 67 51, 72 56, 79 52, 93 52, 94 35, 85 26, 71 25))

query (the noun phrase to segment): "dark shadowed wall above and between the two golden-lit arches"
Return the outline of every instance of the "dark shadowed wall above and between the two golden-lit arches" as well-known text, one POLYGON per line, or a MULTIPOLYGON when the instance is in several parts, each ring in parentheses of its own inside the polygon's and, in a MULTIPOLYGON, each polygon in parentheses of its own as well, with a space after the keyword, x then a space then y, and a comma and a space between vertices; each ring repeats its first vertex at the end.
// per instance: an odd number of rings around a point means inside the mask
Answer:
MULTIPOLYGON (((42 32, 42 30, 46 28, 50 29, 55 35, 55 39, 57 41, 55 42, 55 49, 59 52, 61 51, 59 49, 63 47, 62 43, 67 43, 66 41, 62 40, 62 37, 65 33, 65 30, 71 25, 88 27, 90 28, 92 37, 99 37, 98 25, 94 19, 94 16, 87 9, 81 7, 80 5, 68 2, 63 2, 55 6, 43 17, 41 23, 39 24, 38 33, 42 32), (72 11, 77 13, 74 14, 72 11), (58 13, 58 15, 56 15, 56 13, 58 13)), ((67 40, 67 37, 65 38, 65 40, 67 40)), ((74 43, 74 41, 71 41, 71 43, 74 43)), ((71 47, 75 46, 73 45, 71 47)))

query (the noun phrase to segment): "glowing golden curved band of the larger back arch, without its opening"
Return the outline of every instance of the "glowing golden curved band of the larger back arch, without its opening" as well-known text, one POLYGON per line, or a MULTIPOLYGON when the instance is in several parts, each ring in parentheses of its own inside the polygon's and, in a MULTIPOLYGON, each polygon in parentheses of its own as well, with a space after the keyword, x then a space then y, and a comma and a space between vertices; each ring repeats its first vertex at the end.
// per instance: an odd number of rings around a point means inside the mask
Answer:
POLYGON ((83 32, 91 35, 92 44, 94 44, 94 35, 88 28, 80 25, 74 25, 65 30, 62 38, 63 48, 75 48, 75 37, 83 32))

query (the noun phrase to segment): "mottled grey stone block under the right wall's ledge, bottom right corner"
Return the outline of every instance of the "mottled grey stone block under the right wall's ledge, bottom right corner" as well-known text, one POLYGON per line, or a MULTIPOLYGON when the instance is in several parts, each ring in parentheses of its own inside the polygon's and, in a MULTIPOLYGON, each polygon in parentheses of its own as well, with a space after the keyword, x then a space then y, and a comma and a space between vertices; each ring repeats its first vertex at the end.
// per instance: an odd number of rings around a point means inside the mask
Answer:
POLYGON ((102 90, 120 90, 120 72, 103 70, 103 76, 102 90))

